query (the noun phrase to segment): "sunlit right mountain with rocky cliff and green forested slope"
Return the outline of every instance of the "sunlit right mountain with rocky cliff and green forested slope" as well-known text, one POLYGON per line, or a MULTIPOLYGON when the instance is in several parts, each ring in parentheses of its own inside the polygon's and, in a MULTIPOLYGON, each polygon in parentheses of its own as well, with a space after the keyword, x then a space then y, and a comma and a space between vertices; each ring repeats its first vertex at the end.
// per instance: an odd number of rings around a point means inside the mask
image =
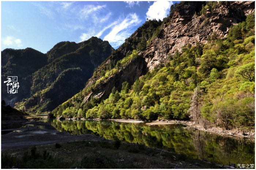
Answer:
POLYGON ((54 115, 253 125, 254 12, 245 1, 175 5, 138 28, 54 115))

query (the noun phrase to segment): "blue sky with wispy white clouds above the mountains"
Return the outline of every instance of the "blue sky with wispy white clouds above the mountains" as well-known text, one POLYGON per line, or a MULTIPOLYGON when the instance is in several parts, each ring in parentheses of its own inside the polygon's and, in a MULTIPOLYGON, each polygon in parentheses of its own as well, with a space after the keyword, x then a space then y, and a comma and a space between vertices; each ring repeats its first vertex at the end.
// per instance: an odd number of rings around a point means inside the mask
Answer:
POLYGON ((172 1, 2 1, 1 50, 42 53, 61 41, 97 36, 117 49, 146 19, 163 19, 172 1))

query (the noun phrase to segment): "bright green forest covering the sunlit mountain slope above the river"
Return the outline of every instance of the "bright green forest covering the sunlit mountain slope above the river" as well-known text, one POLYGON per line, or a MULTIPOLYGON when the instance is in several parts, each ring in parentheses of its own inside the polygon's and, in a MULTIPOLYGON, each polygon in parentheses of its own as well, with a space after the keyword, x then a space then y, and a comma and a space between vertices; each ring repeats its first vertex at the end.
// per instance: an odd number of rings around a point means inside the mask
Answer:
MULTIPOLYGON (((203 15, 203 10, 204 7, 199 15, 203 15)), ((139 58, 138 51, 150 41, 147 35, 161 36, 160 27, 161 24, 151 34, 143 30, 137 49, 109 70, 96 72, 102 77, 94 86, 127 62, 139 58)), ((255 15, 252 13, 246 21, 231 26, 226 38, 219 39, 213 33, 206 44, 188 43, 181 51, 169 55, 168 62, 141 76, 134 84, 123 82, 121 90, 114 87, 101 103, 97 97, 91 97, 84 105, 67 101, 53 113, 90 119, 193 120, 204 128, 215 124, 226 130, 241 129, 255 124, 254 80, 255 15)))

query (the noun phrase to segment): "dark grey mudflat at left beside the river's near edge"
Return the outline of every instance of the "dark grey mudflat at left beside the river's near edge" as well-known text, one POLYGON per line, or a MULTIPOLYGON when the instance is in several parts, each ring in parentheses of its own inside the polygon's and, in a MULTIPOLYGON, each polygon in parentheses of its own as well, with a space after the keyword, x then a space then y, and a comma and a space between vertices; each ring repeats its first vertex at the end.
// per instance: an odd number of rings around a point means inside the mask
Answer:
POLYGON ((8 130, 12 132, 5 135, 1 135, 1 151, 18 148, 30 148, 34 145, 43 146, 58 142, 73 142, 80 140, 105 140, 99 136, 90 134, 75 136, 68 134, 67 132, 59 132, 51 125, 44 122, 30 122, 25 124, 28 124, 29 126, 24 128, 12 128, 2 130, 2 132, 8 130), (48 126, 48 128, 41 129, 39 128, 40 126, 48 126))

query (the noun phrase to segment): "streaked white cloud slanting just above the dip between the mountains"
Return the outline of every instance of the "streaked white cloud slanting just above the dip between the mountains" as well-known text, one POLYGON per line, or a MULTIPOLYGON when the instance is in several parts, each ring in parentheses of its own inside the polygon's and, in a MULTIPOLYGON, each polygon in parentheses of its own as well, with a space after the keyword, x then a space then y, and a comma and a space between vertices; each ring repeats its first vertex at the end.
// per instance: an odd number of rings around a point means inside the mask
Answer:
POLYGON ((103 40, 108 40, 113 47, 118 47, 132 34, 132 27, 137 26, 140 22, 136 13, 130 13, 123 21, 120 20, 103 40))

